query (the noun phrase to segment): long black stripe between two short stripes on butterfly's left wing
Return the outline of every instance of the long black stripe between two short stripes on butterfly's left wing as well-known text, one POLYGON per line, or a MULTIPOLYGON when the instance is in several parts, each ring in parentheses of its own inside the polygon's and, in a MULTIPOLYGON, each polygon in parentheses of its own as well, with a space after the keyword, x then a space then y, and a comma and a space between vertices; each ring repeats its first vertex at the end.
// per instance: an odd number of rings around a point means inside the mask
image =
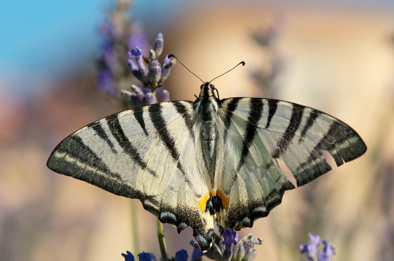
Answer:
POLYGON ((148 168, 147 163, 139 155, 138 150, 130 143, 125 135, 123 128, 119 122, 118 114, 108 116, 106 118, 112 136, 117 140, 118 144, 130 156, 130 158, 142 169, 146 170, 149 174, 157 177, 158 175, 152 169, 148 168))

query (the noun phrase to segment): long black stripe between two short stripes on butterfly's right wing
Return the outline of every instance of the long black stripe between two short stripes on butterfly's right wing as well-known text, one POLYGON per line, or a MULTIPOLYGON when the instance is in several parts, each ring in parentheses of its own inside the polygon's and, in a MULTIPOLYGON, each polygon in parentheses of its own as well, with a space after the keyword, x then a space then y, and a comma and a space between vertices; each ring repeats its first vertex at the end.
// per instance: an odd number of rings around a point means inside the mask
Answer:
POLYGON ((279 158, 282 153, 287 149, 287 146, 292 142, 296 131, 301 124, 304 107, 293 105, 292 116, 290 118, 289 125, 286 128, 285 133, 280 138, 276 145, 275 152, 272 154, 273 158, 279 158))

